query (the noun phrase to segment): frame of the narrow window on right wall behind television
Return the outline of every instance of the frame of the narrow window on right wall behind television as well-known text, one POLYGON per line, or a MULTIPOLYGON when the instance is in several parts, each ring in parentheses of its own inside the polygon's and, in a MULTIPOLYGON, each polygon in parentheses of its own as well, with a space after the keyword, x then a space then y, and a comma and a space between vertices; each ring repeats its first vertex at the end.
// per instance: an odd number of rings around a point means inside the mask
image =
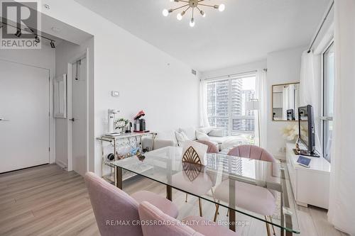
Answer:
MULTIPOLYGON (((329 43, 327 43, 327 46, 324 47, 324 50, 322 51, 321 53, 321 57, 320 57, 320 74, 321 74, 321 78, 320 78, 320 84, 321 84, 321 91, 320 91, 320 96, 321 96, 321 99, 320 99, 320 140, 321 140, 321 145, 322 145, 322 156, 324 156, 324 153, 325 153, 325 150, 327 149, 327 143, 324 142, 324 123, 327 122, 327 121, 330 121, 330 120, 333 120, 333 117, 329 117, 329 116, 324 116, 324 106, 325 106, 325 92, 324 92, 324 89, 325 89, 325 82, 324 82, 324 79, 325 76, 325 61, 324 61, 324 57, 325 57, 325 53, 327 52, 327 50, 329 50, 330 47, 334 46, 334 38, 332 38, 332 40, 329 41, 329 43)), ((324 157, 325 158, 325 157, 324 157)), ((327 159, 327 158, 325 158, 327 159)), ((330 159, 327 159, 329 162, 330 162, 330 159)))

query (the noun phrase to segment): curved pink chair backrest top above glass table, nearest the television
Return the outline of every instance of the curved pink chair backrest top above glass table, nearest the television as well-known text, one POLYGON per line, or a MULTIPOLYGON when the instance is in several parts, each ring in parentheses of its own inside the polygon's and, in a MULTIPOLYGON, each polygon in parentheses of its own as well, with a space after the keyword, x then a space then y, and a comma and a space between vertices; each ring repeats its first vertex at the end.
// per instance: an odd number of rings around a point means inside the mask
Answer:
POLYGON ((276 162, 276 159, 261 147, 255 145, 239 145, 228 152, 229 156, 260 159, 266 162, 276 162))

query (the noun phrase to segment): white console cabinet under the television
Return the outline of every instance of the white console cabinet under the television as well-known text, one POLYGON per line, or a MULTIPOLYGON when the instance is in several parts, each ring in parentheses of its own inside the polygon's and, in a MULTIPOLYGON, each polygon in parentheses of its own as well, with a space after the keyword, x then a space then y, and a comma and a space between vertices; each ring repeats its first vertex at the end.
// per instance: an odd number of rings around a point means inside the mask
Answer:
POLYGON ((328 209, 330 164, 323 157, 310 157, 310 168, 297 163, 295 144, 286 146, 286 162, 297 205, 328 209))

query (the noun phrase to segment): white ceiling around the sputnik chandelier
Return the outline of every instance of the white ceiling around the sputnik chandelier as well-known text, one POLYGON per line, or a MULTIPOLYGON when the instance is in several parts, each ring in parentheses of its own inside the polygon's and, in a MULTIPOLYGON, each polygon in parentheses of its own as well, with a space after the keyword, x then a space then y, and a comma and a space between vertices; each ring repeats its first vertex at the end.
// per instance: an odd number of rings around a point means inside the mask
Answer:
MULTIPOLYGON (((329 0, 206 0, 226 10, 204 8, 190 28, 187 12, 168 17, 169 0, 75 0, 160 50, 203 72, 266 58, 268 52, 308 45, 329 0)), ((195 12, 196 13, 196 12, 195 12)))

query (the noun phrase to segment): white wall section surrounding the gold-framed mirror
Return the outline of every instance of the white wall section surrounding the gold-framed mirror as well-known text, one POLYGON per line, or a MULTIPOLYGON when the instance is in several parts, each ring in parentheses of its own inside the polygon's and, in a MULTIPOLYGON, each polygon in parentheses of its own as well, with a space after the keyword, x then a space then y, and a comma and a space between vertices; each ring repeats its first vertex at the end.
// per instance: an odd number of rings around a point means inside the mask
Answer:
POLYGON ((271 113, 271 99, 273 84, 285 84, 300 82, 301 55, 307 46, 295 47, 288 50, 268 53, 268 74, 266 82, 267 101, 268 101, 268 142, 267 150, 276 158, 284 159, 286 141, 283 139, 281 130, 286 125, 298 125, 297 122, 273 121, 271 113))

